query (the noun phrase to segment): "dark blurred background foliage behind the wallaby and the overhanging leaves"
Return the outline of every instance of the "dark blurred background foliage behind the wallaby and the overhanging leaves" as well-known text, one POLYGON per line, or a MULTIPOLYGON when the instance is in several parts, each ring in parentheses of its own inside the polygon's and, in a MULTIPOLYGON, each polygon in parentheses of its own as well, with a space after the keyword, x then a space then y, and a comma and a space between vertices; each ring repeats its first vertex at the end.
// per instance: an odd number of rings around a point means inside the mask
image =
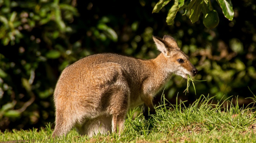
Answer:
MULTIPOLYGON (((61 71, 85 56, 118 53, 152 59, 160 52, 152 36, 171 35, 199 70, 190 92, 187 80, 172 76, 165 97, 174 104, 177 95, 187 104, 200 95, 214 100, 238 97, 247 105, 256 94, 256 4, 232 1, 233 21, 219 13, 219 25, 204 27, 202 15, 192 24, 178 12, 174 25, 166 24, 173 4, 159 13, 158 0, 76 1, 0 0, 0 130, 45 127, 54 122, 53 92, 61 71), (248 88, 249 87, 249 88, 248 88)), ((158 104, 162 91, 155 98, 158 104)))

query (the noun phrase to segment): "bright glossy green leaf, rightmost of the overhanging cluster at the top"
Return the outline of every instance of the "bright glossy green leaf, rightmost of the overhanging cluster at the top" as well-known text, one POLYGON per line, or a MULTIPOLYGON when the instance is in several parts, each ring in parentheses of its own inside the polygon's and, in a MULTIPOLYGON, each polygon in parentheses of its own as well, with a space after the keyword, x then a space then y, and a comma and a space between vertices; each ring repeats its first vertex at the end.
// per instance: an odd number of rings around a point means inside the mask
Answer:
POLYGON ((230 21, 233 20, 234 11, 233 6, 230 0, 218 0, 219 5, 222 8, 222 12, 224 16, 229 19, 230 21))

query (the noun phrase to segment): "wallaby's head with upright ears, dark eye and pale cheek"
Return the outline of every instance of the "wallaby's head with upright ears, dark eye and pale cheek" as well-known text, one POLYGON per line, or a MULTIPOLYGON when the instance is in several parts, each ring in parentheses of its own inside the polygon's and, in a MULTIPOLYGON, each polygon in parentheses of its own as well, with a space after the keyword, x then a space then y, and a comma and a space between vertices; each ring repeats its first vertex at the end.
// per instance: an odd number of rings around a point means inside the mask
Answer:
POLYGON ((167 71, 187 79, 187 75, 196 76, 197 69, 177 45, 171 36, 165 35, 162 38, 153 36, 158 50, 162 52, 166 65, 163 66, 167 71))

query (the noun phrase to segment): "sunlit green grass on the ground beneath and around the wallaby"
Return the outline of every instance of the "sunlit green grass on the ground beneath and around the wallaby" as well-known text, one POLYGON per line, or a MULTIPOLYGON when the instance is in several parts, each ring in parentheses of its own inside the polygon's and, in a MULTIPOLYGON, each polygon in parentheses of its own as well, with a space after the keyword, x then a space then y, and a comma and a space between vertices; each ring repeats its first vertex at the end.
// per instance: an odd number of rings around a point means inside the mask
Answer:
POLYGON ((146 121, 140 110, 129 111, 121 136, 98 135, 93 138, 79 136, 72 130, 66 137, 54 141, 51 124, 41 130, 5 131, 1 141, 26 142, 256 142, 255 113, 237 104, 219 102, 201 96, 189 107, 183 102, 169 105, 162 98, 156 107, 157 115, 146 121), (138 114, 137 117, 133 115, 138 114))

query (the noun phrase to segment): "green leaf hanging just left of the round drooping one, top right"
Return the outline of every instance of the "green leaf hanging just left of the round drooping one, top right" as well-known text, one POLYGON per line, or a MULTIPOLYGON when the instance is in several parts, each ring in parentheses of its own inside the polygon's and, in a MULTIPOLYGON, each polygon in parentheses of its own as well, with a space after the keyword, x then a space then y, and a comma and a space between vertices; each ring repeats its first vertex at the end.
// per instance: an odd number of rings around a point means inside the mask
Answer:
POLYGON ((190 20, 192 23, 198 21, 203 2, 204 2, 203 0, 197 0, 196 3, 191 8, 190 20))

